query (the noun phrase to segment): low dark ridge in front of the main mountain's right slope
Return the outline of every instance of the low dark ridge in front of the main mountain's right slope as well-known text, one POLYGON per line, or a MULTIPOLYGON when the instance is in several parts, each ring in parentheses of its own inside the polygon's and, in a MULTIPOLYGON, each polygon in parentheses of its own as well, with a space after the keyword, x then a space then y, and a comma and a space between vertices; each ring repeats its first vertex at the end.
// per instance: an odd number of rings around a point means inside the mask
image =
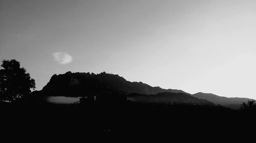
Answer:
POLYGON ((130 94, 127 99, 141 103, 166 103, 166 104, 190 104, 190 105, 215 105, 205 99, 198 99, 185 93, 163 92, 156 95, 130 94))

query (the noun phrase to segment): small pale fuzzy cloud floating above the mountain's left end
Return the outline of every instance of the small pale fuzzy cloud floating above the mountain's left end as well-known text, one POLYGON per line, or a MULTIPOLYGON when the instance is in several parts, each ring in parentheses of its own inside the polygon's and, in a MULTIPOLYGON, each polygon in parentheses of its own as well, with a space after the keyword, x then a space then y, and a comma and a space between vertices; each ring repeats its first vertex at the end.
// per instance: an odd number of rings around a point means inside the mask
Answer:
POLYGON ((69 64, 73 61, 72 56, 67 52, 59 51, 59 52, 52 53, 52 55, 53 55, 54 61, 61 65, 69 64))

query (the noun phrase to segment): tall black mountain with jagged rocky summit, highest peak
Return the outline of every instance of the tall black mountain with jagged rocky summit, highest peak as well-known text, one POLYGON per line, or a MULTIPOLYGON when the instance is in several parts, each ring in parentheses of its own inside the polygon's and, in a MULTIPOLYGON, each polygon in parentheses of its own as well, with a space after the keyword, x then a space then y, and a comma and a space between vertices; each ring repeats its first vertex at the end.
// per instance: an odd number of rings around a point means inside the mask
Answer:
POLYGON ((45 87, 39 91, 47 96, 81 97, 88 94, 100 94, 108 92, 118 92, 122 94, 145 94, 155 95, 162 92, 184 93, 181 90, 162 89, 151 87, 142 82, 130 82, 123 77, 102 72, 94 73, 72 73, 54 74, 45 87))

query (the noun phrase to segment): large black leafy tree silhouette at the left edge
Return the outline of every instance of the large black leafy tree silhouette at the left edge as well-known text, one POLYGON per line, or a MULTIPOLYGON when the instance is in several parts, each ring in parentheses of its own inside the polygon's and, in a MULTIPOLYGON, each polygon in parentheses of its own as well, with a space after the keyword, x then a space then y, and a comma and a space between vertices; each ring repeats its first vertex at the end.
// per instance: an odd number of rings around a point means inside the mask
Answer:
POLYGON ((20 68, 16 60, 3 60, 0 70, 0 101, 12 102, 31 93, 35 80, 30 78, 25 68, 20 68))

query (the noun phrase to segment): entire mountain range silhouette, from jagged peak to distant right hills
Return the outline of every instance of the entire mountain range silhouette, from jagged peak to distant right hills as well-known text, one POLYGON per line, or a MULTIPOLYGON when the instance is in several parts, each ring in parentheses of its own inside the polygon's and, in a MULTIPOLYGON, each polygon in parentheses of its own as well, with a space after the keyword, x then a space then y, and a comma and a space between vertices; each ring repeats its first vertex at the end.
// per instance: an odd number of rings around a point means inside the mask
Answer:
POLYGON ((227 98, 201 92, 191 95, 182 90, 162 89, 160 87, 151 87, 143 82, 127 81, 118 74, 109 74, 105 72, 99 74, 89 72, 72 73, 70 71, 65 74, 54 74, 42 90, 34 91, 32 94, 37 95, 37 98, 39 99, 45 100, 49 96, 86 97, 88 95, 108 95, 113 92, 124 94, 128 99, 136 102, 144 101, 169 104, 214 103, 231 109, 239 109, 243 102, 253 100, 249 98, 227 98))

